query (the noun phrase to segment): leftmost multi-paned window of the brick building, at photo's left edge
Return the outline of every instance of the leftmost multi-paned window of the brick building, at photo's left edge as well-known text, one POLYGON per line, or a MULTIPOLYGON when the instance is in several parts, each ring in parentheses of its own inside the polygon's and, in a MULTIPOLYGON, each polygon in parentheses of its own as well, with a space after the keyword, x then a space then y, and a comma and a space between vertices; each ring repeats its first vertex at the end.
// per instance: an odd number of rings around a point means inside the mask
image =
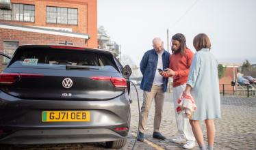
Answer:
POLYGON ((12 10, 0 10, 0 20, 35 21, 35 6, 12 3, 12 10))

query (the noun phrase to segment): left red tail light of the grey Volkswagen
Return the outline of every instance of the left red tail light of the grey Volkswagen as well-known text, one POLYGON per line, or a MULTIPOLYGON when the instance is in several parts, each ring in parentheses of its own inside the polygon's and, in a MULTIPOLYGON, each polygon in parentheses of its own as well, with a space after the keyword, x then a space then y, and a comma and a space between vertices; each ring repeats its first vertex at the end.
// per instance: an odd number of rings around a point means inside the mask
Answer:
POLYGON ((24 73, 2 73, 0 74, 0 84, 12 85, 20 78, 41 78, 44 74, 24 74, 24 73))

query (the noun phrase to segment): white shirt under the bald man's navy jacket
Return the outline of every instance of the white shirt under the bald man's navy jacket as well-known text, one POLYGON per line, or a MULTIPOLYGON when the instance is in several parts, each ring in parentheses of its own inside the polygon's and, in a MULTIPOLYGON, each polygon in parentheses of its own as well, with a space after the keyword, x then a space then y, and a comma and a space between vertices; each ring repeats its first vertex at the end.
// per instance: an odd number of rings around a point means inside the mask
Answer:
MULTIPOLYGON (((157 61, 157 68, 163 69, 163 59, 162 59, 162 55, 164 53, 164 50, 162 50, 162 52, 157 53, 158 55, 158 61, 157 61)), ((163 80, 163 76, 161 76, 161 74, 159 74, 158 70, 156 69, 155 71, 155 78, 153 81, 153 85, 163 85, 164 84, 164 80, 163 80)))

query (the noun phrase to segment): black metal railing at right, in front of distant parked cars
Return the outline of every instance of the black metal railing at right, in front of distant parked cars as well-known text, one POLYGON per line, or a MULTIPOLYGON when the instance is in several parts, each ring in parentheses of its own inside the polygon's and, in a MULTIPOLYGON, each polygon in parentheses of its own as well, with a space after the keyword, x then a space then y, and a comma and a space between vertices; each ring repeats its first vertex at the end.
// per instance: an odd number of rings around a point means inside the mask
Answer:
POLYGON ((220 93, 222 95, 256 96, 256 85, 222 84, 220 85, 220 93))

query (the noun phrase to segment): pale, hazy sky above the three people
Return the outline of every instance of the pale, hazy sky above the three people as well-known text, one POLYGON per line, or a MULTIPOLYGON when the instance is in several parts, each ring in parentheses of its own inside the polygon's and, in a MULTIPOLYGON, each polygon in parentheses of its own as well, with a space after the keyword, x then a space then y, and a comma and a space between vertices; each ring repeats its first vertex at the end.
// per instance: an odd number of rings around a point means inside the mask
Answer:
POLYGON ((219 63, 256 63, 255 0, 98 0, 99 26, 136 65, 154 37, 167 50, 167 29, 183 33, 193 52, 194 36, 206 33, 219 63))

